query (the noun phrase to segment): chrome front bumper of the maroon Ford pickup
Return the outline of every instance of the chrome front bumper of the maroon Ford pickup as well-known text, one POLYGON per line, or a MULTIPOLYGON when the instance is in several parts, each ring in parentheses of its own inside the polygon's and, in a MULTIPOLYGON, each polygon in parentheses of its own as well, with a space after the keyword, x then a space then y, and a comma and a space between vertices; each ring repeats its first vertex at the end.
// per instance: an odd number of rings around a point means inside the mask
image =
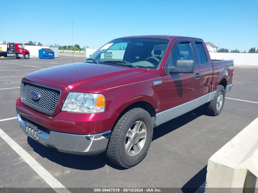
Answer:
MULTIPOLYGON (((18 123, 26 134, 25 121, 17 113, 18 123)), ((28 121, 29 122, 29 121, 28 121)), ((33 124, 33 123, 32 123, 33 124)), ((50 131, 49 134, 37 129, 36 141, 60 152, 79 155, 96 155, 105 151, 111 130, 98 134, 79 135, 50 131)))

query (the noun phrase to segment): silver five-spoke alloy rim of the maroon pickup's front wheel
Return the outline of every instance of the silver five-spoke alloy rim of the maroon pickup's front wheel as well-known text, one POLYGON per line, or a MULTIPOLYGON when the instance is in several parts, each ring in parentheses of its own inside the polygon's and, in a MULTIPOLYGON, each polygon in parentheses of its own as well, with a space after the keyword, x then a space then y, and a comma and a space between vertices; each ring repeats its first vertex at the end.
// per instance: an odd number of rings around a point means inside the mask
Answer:
POLYGON ((135 121, 126 133, 125 152, 134 156, 144 147, 147 136, 146 125, 142 121, 135 121))

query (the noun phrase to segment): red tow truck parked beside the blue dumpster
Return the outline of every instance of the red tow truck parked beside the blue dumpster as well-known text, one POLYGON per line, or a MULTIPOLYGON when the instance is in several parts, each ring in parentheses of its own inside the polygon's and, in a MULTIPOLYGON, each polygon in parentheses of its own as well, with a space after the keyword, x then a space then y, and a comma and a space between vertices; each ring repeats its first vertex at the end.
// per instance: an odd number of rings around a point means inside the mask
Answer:
POLYGON ((0 56, 16 57, 17 59, 24 57, 25 59, 29 59, 30 52, 24 49, 23 45, 20 43, 8 43, 6 51, 0 51, 0 56))

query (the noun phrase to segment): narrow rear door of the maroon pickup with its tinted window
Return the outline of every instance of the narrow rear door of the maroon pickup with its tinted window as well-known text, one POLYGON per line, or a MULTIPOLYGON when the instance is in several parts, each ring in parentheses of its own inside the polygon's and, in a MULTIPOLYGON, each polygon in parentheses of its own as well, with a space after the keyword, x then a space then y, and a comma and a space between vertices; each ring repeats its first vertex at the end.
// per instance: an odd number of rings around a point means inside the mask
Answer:
POLYGON ((206 55, 205 43, 201 40, 193 40, 193 41, 194 41, 194 47, 198 56, 198 65, 200 66, 199 93, 200 93, 200 96, 202 96, 211 92, 213 66, 212 66, 212 62, 208 60, 208 57, 206 55))

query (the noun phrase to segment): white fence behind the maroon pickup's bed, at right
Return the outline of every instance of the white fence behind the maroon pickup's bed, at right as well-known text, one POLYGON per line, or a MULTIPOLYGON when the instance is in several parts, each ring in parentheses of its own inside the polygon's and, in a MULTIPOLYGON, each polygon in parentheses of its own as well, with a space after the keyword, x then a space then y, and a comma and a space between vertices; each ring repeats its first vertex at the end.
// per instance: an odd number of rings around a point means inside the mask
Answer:
POLYGON ((209 52, 211 59, 233 60, 234 65, 258 66, 258 53, 209 52))

